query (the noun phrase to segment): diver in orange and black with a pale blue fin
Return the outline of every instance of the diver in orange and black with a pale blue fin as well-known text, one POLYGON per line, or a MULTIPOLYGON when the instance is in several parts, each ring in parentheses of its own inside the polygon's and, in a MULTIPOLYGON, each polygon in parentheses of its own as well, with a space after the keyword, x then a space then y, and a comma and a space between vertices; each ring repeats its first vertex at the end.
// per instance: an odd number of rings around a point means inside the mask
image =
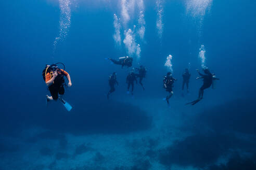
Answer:
POLYGON ((51 94, 51 96, 46 95, 46 102, 52 100, 57 101, 59 99, 67 110, 70 111, 72 107, 65 100, 63 100, 63 98, 59 97, 59 95, 63 95, 65 93, 65 89, 63 87, 63 84, 65 83, 64 76, 66 76, 69 81, 68 87, 72 86, 70 75, 65 71, 65 65, 63 63, 46 65, 42 76, 51 94), (62 64, 64 68, 58 68, 57 64, 62 64))

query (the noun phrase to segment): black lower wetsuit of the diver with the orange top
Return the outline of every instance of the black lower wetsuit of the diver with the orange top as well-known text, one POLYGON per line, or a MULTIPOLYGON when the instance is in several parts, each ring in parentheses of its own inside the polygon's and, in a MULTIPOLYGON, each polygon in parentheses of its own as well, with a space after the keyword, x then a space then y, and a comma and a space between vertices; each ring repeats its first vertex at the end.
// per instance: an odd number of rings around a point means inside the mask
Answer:
POLYGON ((65 80, 63 78, 63 75, 58 74, 58 76, 54 80, 54 83, 48 87, 50 94, 53 97, 53 100, 58 100, 59 94, 63 95, 65 93, 65 89, 63 87, 64 81, 65 80))

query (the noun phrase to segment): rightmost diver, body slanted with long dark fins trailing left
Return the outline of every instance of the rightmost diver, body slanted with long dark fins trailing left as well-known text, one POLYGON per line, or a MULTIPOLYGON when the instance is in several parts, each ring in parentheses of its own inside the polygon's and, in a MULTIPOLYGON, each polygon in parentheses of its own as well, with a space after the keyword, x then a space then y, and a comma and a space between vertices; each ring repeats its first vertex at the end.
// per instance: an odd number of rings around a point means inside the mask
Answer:
POLYGON ((204 74, 201 74, 199 72, 199 69, 197 69, 197 72, 200 76, 200 77, 197 77, 197 79, 203 79, 203 85, 199 89, 199 94, 198 94, 197 100, 187 103, 187 104, 191 104, 191 105, 195 105, 196 103, 198 103, 199 101, 202 100, 204 90, 211 87, 213 80, 220 80, 219 78, 216 78, 216 76, 214 74, 212 74, 207 67, 205 67, 203 69, 204 74))

